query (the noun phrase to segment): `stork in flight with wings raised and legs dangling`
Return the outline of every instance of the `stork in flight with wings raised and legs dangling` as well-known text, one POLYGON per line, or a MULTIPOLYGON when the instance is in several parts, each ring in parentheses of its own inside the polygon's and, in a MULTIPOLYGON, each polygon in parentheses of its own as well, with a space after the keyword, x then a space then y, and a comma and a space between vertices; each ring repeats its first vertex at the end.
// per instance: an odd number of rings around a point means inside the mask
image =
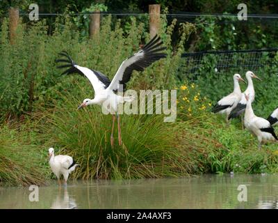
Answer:
MULTIPOLYGON (((58 68, 68 68, 63 72, 63 74, 78 73, 80 75, 85 75, 87 77, 92 87, 95 91, 95 98, 86 98, 83 103, 79 106, 79 109, 88 105, 106 105, 108 112, 113 114, 113 124, 111 132, 111 145, 113 146, 113 130, 115 123, 115 114, 117 114, 117 105, 119 103, 131 102, 132 97, 122 97, 117 95, 115 91, 124 91, 126 83, 131 79, 131 74, 133 70, 143 71, 145 68, 150 66, 155 61, 165 58, 167 54, 163 52, 166 47, 161 47, 163 42, 161 38, 157 35, 152 38, 152 40, 147 43, 142 49, 140 49, 136 54, 129 57, 122 62, 120 68, 118 68, 112 82, 104 74, 97 70, 91 70, 89 68, 84 68, 76 65, 72 61, 71 57, 67 52, 61 52, 61 56, 67 57, 67 59, 58 59, 56 62, 65 62, 62 66, 58 68)), ((63 75, 62 74, 62 75, 63 75)), ((121 130, 120 130, 120 116, 117 115, 117 127, 118 127, 118 140, 119 144, 122 144, 121 130)))

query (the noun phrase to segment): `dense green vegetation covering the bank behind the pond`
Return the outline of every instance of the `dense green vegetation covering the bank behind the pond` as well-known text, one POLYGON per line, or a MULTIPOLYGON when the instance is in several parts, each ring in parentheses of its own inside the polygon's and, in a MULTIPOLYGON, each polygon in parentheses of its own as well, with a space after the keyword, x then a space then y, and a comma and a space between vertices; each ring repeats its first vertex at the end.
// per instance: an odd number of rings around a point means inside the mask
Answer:
MULTIPOLYGON (((90 40, 80 22, 69 15, 53 21, 51 35, 49 21, 21 22, 14 45, 8 40, 8 20, 1 18, 0 183, 46 183, 52 176, 47 163, 50 146, 56 148, 56 154, 73 155, 81 164, 72 178, 276 172, 275 144, 258 151, 256 139, 241 130, 240 121, 232 121, 227 128, 222 117, 210 112, 211 105, 232 90, 234 72, 244 77, 247 70, 215 72, 215 58, 208 58, 197 77, 185 77, 181 54, 190 45, 195 51, 275 46, 277 27, 271 32, 258 29, 238 45, 243 31, 236 28, 239 37, 231 38, 233 27, 221 31, 218 20, 179 23, 167 21, 167 15, 162 15, 160 35, 168 56, 144 72, 134 72, 129 88, 177 89, 177 121, 163 123, 163 115, 122 115, 123 146, 116 143, 111 148, 111 116, 101 114, 99 107, 76 110, 83 98, 93 97, 90 83, 77 75, 61 77, 54 60, 58 52, 66 50, 76 63, 112 78, 122 60, 149 40, 146 17, 131 17, 124 22, 102 17, 99 36, 90 40), (206 22, 210 25, 205 26, 206 22)), ((278 104, 278 96, 273 94, 278 84, 274 75, 278 55, 265 54, 263 59, 265 66, 256 70, 263 82, 255 82, 254 110, 266 117, 278 104)))

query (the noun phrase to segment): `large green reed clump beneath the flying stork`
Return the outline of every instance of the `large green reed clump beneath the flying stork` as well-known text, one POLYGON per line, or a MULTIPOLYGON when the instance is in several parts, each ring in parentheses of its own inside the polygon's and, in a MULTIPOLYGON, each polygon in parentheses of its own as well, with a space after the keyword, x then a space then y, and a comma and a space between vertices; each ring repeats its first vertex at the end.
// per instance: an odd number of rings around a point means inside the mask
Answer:
MULTIPOLYGON (((158 178, 192 172, 186 153, 178 148, 181 126, 164 123, 163 115, 120 115, 122 146, 111 146, 112 116, 99 106, 77 110, 85 94, 68 94, 51 114, 41 118, 47 145, 72 155, 81 167, 74 178, 158 178)), ((58 154, 57 153, 57 154, 58 154)))

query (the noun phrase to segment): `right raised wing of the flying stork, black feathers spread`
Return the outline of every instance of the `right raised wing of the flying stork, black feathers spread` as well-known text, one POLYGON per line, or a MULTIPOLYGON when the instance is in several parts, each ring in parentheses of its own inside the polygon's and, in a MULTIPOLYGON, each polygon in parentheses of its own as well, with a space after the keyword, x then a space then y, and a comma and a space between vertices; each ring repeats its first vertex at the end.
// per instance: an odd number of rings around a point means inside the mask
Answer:
POLYGON ((123 61, 108 89, 120 91, 122 85, 122 90, 124 90, 126 83, 131 79, 133 70, 143 71, 154 61, 165 58, 167 54, 163 50, 166 47, 160 47, 162 44, 161 38, 156 35, 136 54, 123 61))

